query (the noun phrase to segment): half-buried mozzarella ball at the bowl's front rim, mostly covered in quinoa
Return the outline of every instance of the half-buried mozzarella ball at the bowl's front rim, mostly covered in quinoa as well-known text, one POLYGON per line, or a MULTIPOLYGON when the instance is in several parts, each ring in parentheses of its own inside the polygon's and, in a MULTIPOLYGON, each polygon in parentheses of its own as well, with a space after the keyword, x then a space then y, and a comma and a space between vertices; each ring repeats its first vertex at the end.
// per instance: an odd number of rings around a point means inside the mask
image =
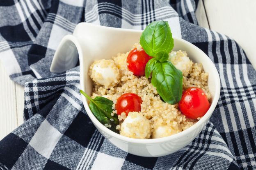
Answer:
POLYGON ((178 132, 180 132, 180 130, 173 130, 171 127, 162 124, 153 128, 152 138, 171 136, 172 134, 176 134, 178 132))

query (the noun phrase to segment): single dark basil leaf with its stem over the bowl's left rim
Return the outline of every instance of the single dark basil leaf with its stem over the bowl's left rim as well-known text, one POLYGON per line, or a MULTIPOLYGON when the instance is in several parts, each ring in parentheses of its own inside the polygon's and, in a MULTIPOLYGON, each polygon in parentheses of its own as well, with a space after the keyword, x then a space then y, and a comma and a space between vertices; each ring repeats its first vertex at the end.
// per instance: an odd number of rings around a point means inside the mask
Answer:
POLYGON ((119 131, 116 129, 117 125, 119 125, 117 114, 111 116, 113 111, 113 101, 101 96, 97 96, 92 99, 82 90, 80 90, 80 93, 90 101, 89 108, 91 109, 91 112, 94 114, 94 116, 98 119, 98 121, 100 121, 103 125, 111 125, 110 128, 107 128, 116 133, 119 133, 119 131))

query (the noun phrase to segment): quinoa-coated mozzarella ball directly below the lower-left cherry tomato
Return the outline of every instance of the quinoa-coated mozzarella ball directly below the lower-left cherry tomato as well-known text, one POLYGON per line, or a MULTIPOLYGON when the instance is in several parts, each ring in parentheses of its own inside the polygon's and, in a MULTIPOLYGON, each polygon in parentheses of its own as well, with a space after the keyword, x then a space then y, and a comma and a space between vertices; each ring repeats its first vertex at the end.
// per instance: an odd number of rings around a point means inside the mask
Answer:
POLYGON ((149 139, 150 121, 138 112, 130 112, 121 124, 120 134, 130 138, 149 139))

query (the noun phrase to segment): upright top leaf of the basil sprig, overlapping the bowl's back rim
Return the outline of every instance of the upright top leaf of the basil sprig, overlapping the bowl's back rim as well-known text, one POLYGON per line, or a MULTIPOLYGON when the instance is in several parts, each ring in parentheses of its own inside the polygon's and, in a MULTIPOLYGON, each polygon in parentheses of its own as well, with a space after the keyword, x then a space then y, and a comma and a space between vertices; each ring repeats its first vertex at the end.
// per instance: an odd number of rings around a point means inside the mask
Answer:
POLYGON ((142 32, 139 43, 149 56, 158 57, 158 60, 161 56, 166 57, 161 52, 166 51, 169 54, 174 47, 168 22, 162 20, 151 22, 142 32))

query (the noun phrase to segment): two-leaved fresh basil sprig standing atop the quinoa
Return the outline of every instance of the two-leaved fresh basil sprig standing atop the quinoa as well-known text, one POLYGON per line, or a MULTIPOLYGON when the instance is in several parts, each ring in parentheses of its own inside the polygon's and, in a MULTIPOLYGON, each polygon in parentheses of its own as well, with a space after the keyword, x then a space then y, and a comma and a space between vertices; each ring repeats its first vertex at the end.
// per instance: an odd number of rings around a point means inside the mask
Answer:
POLYGON ((152 72, 151 83, 161 98, 169 104, 178 103, 182 95, 183 76, 179 69, 167 61, 174 47, 168 22, 151 22, 142 32, 139 42, 146 54, 153 57, 146 64, 146 78, 152 72))

